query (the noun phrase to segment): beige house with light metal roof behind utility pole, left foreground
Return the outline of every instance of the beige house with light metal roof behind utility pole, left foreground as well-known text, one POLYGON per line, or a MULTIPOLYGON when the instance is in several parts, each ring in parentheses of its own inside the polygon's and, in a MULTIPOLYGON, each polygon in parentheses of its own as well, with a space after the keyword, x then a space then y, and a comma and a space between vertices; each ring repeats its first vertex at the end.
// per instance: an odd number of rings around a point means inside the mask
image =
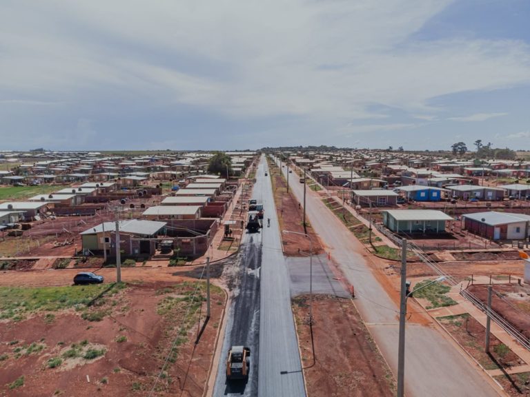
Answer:
MULTIPOLYGON (((119 221, 119 247, 125 255, 155 254, 155 238, 166 226, 166 222, 129 219, 119 221)), ((88 254, 108 250, 110 256, 116 252, 116 223, 104 222, 81 232, 83 252, 88 254)))

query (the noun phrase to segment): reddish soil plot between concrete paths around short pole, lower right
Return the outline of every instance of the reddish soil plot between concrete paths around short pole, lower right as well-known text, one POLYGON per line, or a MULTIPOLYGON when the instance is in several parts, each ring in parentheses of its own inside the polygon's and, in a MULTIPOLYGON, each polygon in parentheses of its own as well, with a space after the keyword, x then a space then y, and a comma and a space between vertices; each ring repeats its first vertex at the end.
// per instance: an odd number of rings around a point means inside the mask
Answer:
POLYGON ((486 329, 473 316, 465 313, 458 316, 439 317, 438 320, 484 369, 509 368, 524 364, 517 354, 502 344, 493 334, 490 338, 490 354, 487 354, 484 347, 486 329))

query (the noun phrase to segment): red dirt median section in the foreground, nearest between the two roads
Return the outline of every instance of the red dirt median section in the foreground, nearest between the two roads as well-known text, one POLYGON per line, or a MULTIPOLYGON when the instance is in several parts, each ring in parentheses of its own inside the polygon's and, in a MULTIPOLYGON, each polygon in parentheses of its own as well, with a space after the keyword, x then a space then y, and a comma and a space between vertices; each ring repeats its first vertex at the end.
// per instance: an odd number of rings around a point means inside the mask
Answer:
POLYGON ((306 322, 308 296, 294 299, 293 313, 308 397, 394 395, 391 371, 351 301, 314 296, 313 335, 306 322))

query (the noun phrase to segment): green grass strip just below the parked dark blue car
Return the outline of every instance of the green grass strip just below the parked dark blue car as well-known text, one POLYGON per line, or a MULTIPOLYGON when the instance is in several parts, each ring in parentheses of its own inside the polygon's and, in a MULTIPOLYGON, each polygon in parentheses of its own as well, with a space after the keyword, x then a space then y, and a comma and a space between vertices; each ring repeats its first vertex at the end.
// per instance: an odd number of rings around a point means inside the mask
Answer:
POLYGON ((86 305, 108 285, 68 287, 0 287, 0 319, 21 317, 23 314, 55 312, 68 307, 86 305))

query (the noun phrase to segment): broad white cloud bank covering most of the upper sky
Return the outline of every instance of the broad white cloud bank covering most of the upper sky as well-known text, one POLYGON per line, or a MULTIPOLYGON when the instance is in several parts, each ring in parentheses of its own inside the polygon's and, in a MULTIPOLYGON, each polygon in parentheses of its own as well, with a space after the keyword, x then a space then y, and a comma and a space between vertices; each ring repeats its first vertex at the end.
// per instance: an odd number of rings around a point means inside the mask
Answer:
POLYGON ((190 105, 329 130, 385 117, 373 105, 437 121, 430 99, 530 82, 530 49, 520 41, 411 39, 453 0, 29 3, 0 6, 0 101, 70 103, 73 119, 94 123, 110 112, 97 109, 101 99, 115 101, 112 110, 190 105))

